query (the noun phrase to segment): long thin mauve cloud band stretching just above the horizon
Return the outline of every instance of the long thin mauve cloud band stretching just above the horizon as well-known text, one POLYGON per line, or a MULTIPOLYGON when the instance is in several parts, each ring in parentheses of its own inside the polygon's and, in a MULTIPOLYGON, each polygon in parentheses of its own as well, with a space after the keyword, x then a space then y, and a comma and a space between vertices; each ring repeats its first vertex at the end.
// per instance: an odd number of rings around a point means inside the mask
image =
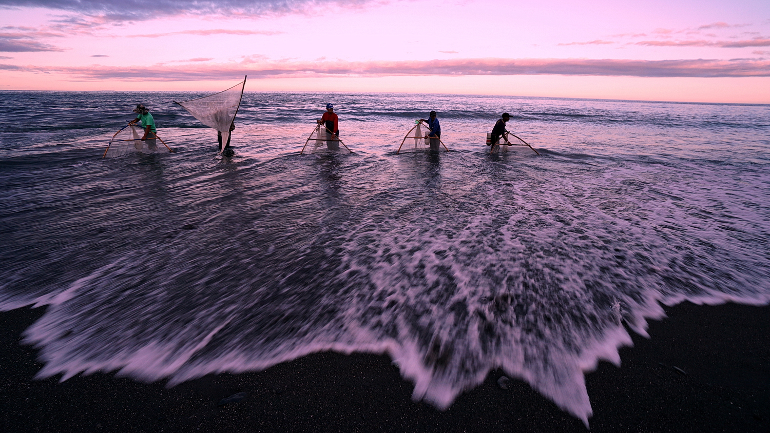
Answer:
MULTIPOLYGON (((12 66, 12 65, 7 65, 12 66)), ((75 81, 195 81, 249 78, 314 78, 394 75, 599 75, 634 77, 767 77, 770 62, 758 60, 623 60, 585 58, 461 58, 430 61, 240 62, 179 66, 14 66, 27 72, 57 72, 75 81)))

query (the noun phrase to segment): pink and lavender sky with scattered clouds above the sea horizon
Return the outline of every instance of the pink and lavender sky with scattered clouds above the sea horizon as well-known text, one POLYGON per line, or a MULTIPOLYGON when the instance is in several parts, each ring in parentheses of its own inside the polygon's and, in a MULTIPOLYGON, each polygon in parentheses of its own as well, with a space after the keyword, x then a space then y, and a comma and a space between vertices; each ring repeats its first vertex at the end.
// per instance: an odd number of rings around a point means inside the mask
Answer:
POLYGON ((770 103, 770 2, 0 0, 0 90, 770 103))

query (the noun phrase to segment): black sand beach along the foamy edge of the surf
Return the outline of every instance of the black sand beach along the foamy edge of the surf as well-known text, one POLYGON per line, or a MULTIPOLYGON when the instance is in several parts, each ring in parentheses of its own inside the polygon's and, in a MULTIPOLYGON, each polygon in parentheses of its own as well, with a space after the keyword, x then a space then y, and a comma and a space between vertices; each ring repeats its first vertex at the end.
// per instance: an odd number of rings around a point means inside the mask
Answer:
MULTIPOLYGON (((770 307, 666 311, 650 339, 621 350, 621 368, 586 376, 591 431, 770 431, 770 307)), ((524 382, 500 388, 502 371, 438 411, 412 401, 384 355, 321 353, 174 388, 114 374, 34 380, 37 352, 19 341, 44 312, 0 313, 2 431, 587 431, 524 382)))

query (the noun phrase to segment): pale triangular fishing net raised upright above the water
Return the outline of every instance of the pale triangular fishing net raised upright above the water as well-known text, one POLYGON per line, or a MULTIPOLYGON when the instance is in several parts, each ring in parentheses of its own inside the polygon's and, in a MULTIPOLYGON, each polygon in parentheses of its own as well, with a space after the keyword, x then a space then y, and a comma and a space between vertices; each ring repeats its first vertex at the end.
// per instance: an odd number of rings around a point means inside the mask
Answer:
MULTIPOLYGON (((219 131, 222 135, 222 142, 226 143, 230 136, 230 125, 233 124, 233 120, 238 114, 245 87, 246 77, 243 77, 243 82, 239 82, 222 92, 185 102, 174 101, 174 103, 182 105, 182 108, 186 109, 192 117, 198 119, 203 125, 219 131)), ((219 150, 219 153, 222 153, 223 150, 224 146, 219 150)))

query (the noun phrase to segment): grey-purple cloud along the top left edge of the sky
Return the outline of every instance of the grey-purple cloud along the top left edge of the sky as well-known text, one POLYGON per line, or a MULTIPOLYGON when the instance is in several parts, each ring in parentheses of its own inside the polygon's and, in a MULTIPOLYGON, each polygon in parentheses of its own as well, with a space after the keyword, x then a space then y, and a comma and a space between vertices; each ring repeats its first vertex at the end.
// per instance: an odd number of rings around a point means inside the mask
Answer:
POLYGON ((80 15, 131 21, 168 15, 266 15, 299 12, 310 5, 346 3, 363 5, 368 0, 0 0, 0 8, 46 8, 80 15))

